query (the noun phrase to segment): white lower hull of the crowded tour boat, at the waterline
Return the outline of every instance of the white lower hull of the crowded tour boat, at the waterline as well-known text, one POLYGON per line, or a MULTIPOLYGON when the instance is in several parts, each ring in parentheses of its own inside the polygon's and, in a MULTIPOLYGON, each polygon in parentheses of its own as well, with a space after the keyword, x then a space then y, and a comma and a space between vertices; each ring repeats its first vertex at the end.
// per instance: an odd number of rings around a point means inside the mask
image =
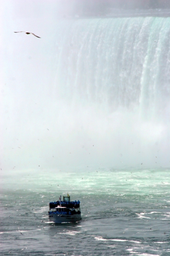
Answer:
POLYGON ((65 215, 65 214, 49 214, 49 220, 55 223, 62 223, 62 222, 76 222, 81 220, 81 213, 74 214, 74 215, 65 215))

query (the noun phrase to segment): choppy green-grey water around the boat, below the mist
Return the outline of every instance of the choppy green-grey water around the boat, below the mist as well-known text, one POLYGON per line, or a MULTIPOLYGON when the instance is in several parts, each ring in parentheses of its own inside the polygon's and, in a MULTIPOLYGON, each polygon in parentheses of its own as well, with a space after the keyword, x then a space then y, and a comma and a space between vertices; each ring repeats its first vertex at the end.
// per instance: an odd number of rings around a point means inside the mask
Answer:
POLYGON ((1 255, 170 255, 170 170, 99 166, 4 175, 1 255), (67 192, 82 220, 49 222, 48 203, 67 192))

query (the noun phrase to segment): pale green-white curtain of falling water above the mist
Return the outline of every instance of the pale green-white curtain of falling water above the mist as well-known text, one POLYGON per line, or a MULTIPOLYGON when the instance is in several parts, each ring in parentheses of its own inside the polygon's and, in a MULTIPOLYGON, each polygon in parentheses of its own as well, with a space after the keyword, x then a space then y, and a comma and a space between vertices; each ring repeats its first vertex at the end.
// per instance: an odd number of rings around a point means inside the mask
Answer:
POLYGON ((61 95, 147 119, 169 114, 170 18, 64 20, 56 37, 61 95))

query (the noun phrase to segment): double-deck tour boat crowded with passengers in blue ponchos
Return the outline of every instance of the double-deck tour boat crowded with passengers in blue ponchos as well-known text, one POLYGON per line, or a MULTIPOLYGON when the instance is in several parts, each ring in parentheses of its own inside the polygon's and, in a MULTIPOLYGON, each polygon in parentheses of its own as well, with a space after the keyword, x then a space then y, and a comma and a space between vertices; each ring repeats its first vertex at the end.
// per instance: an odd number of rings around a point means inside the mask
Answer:
POLYGON ((49 203, 48 215, 50 221, 55 223, 79 221, 81 220, 80 201, 70 201, 69 194, 63 196, 61 201, 60 196, 59 201, 49 203))

